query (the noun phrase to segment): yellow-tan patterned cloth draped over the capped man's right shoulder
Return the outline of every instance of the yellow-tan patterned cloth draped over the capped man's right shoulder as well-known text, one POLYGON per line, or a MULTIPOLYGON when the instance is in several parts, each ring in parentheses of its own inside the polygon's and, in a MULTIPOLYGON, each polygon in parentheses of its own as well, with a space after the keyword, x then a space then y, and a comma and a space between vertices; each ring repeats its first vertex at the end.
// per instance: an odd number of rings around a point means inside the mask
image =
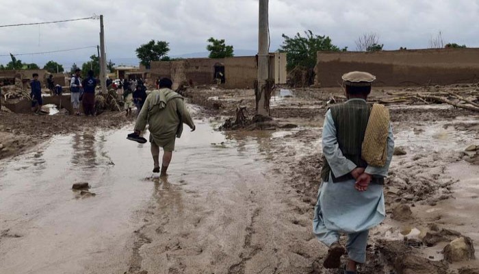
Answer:
POLYGON ((361 155, 370 166, 382 167, 387 158, 387 134, 389 132, 389 110, 385 105, 372 105, 367 121, 361 155))

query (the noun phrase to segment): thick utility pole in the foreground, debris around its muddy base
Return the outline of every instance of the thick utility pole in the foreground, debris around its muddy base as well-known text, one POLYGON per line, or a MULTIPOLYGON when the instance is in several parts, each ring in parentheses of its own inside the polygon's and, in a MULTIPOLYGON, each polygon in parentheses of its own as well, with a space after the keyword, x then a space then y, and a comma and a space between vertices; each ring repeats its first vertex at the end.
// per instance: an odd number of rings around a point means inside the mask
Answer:
POLYGON ((266 98, 267 80, 270 77, 270 53, 268 52, 268 0, 259 0, 258 33, 258 89, 256 114, 270 116, 269 98, 266 98))

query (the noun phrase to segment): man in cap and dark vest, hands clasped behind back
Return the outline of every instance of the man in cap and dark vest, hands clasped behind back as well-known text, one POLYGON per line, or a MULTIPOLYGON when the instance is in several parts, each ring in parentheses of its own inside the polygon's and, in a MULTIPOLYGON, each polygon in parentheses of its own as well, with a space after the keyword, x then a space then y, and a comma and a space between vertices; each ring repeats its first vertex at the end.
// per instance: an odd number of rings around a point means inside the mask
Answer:
POLYGON ((376 77, 354 71, 342 79, 348 100, 333 105, 324 120, 322 184, 313 233, 329 247, 323 266, 339 268, 347 252, 344 273, 354 274, 357 264, 365 263, 369 230, 386 216, 383 183, 394 140, 389 111, 383 105, 366 103, 376 77), (348 235, 346 249, 339 242, 341 233, 348 235))

